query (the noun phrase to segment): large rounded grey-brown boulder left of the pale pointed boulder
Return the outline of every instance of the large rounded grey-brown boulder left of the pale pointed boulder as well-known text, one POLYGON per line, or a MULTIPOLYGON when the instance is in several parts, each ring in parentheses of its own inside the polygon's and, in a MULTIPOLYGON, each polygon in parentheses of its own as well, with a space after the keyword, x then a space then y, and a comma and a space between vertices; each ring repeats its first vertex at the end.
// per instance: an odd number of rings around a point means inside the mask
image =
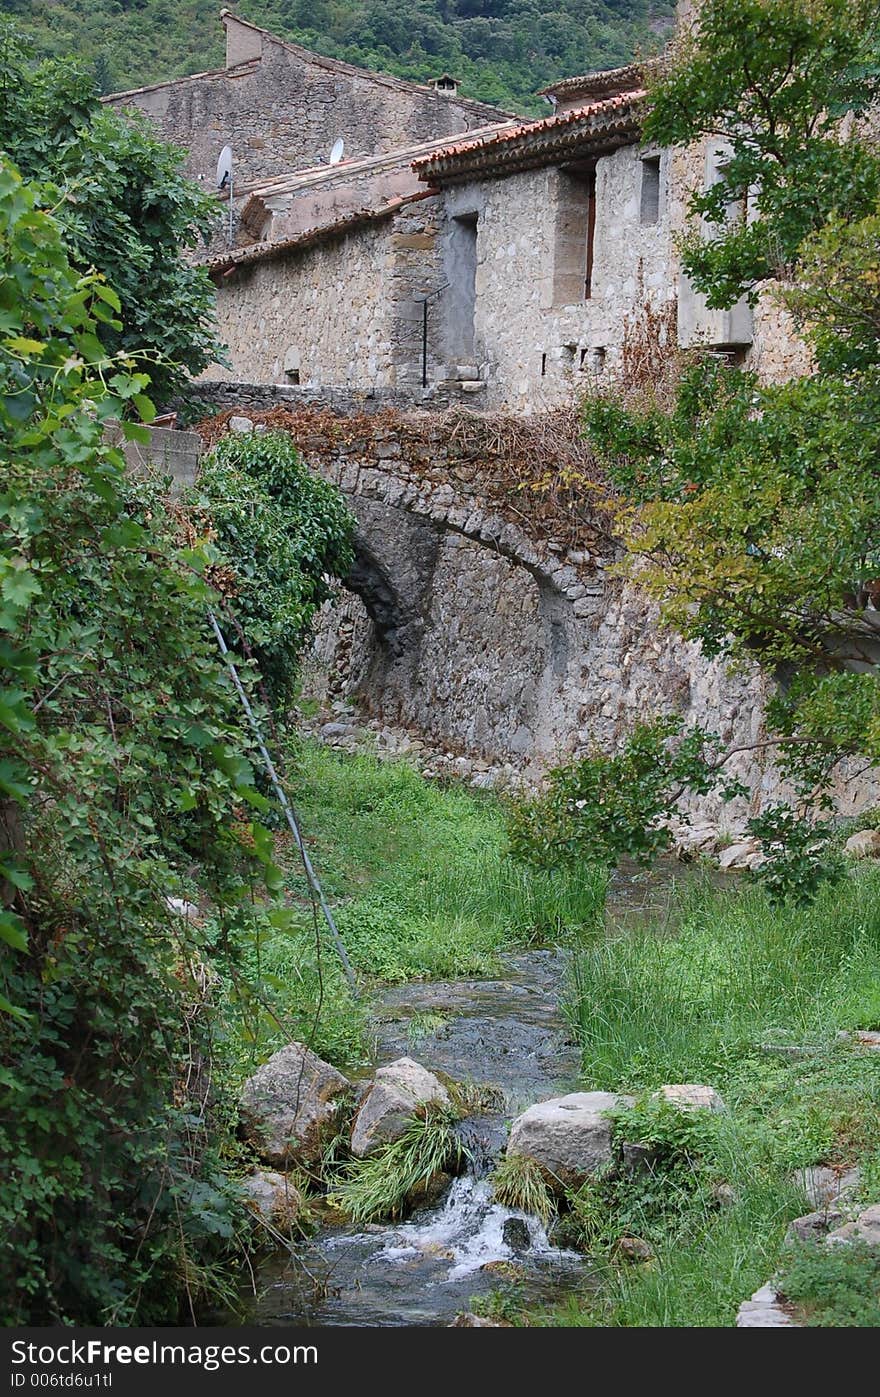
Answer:
POLYGON ((288 1044, 249 1077, 239 1115, 247 1143, 281 1169, 314 1164, 338 1127, 351 1081, 305 1044, 288 1044))

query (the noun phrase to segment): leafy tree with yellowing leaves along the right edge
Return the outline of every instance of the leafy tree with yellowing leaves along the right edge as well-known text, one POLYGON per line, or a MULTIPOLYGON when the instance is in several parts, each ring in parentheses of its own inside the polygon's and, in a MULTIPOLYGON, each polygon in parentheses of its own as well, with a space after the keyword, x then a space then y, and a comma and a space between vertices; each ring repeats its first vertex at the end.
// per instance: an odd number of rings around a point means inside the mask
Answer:
MULTIPOLYGON (((880 155, 869 123, 841 126, 877 98, 879 36, 880 13, 862 0, 705 0, 647 119, 665 144, 728 144, 721 182, 691 197, 711 236, 684 242, 684 267, 712 306, 781 296, 814 372, 763 386, 696 355, 672 402, 643 384, 585 407, 633 578, 704 652, 758 658, 778 680, 767 740, 813 821, 805 834, 781 806, 751 821, 779 897, 816 887, 827 834, 816 812, 841 759, 880 764, 880 155), (728 205, 746 193, 750 217, 731 226, 728 205)), ((663 780, 682 791, 679 745, 665 738, 648 795, 663 780)), ((719 777, 724 756, 710 746, 707 757, 719 777)), ((571 820, 580 802, 588 824, 610 830, 620 799, 603 760, 566 795, 571 820)), ((684 785, 705 780, 694 768, 684 785)))

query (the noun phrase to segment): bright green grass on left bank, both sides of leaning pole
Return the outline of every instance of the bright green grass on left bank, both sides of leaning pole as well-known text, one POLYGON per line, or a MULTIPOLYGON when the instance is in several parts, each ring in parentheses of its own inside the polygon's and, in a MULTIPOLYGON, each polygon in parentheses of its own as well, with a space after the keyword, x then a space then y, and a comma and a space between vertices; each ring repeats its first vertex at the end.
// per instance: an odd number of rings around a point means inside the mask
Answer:
MULTIPOLYGON (((344 1070, 369 1062, 369 993, 379 982, 490 975, 500 951, 596 935, 605 875, 532 875, 513 863, 490 795, 310 742, 296 746, 291 789, 365 992, 352 1000, 325 932, 318 957, 298 855, 278 831, 291 909, 242 918, 240 975, 228 986, 239 1078, 293 1038, 344 1070)), ((413 1034, 434 1027, 425 1020, 413 1034)))

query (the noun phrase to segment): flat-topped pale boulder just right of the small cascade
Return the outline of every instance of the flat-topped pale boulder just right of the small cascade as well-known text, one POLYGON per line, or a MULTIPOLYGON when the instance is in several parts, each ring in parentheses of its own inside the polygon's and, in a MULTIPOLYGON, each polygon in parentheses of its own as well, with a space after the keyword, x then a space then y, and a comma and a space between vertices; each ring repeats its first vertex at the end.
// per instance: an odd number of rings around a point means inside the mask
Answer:
POLYGON ((610 1091, 574 1091, 539 1101, 514 1120, 507 1154, 534 1160, 557 1190, 578 1187, 612 1161, 606 1112, 631 1105, 631 1097, 610 1091))

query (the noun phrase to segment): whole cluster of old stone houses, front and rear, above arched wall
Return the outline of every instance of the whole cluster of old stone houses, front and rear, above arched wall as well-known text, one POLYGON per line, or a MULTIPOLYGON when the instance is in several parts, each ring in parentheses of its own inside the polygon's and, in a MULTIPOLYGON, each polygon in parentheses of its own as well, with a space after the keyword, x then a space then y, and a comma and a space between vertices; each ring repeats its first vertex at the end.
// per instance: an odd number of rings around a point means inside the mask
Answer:
POLYGON ((207 379, 522 414, 570 401, 648 331, 767 376, 802 365, 771 305, 710 312, 680 274, 687 196, 725 152, 641 142, 638 64, 564 78, 550 116, 517 120, 448 74, 405 82, 221 18, 223 70, 108 99, 148 113, 203 180, 233 148, 232 240, 223 210, 205 253, 229 362, 207 379))

